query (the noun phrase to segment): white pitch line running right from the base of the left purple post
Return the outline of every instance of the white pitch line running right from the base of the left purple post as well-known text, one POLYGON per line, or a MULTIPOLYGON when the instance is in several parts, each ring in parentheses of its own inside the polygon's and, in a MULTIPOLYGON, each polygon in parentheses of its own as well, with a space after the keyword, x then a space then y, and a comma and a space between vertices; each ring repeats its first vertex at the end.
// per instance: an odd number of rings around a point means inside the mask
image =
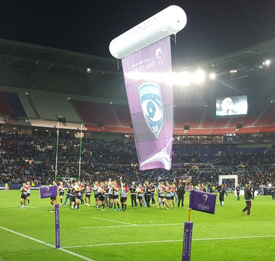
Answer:
MULTIPOLYGON (((275 238, 275 236, 236 236, 234 238, 194 238, 192 241, 199 240, 226 240, 226 239, 242 239, 242 238, 275 238)), ((111 243, 111 244, 97 244, 97 245, 86 245, 86 246, 72 246, 72 247, 63 247, 65 249, 76 248, 76 247, 105 247, 105 246, 114 246, 114 245, 132 245, 132 244, 152 244, 152 243, 164 243, 164 242, 182 242, 182 239, 177 240, 161 240, 161 241, 145 241, 145 242, 122 242, 122 243, 111 243)))

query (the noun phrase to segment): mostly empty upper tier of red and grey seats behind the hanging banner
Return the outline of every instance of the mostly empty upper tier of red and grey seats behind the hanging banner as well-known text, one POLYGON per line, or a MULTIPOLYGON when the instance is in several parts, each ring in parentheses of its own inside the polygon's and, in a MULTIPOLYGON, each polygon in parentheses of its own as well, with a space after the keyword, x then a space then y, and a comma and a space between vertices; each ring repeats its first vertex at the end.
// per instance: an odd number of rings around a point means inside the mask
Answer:
MULTIPOLYGON (((228 135, 265 133, 275 131, 275 104, 270 103, 262 110, 254 110, 249 115, 217 117, 207 106, 175 106, 174 135, 228 135), (237 124, 242 124, 237 128, 237 124)), ((8 117, 10 124, 20 125, 16 117, 29 119, 34 126, 56 126, 57 115, 65 117, 61 126, 77 129, 85 124, 89 131, 110 133, 133 133, 131 115, 126 104, 87 102, 68 100, 47 93, 39 95, 23 92, 0 92, 0 115, 8 117)))

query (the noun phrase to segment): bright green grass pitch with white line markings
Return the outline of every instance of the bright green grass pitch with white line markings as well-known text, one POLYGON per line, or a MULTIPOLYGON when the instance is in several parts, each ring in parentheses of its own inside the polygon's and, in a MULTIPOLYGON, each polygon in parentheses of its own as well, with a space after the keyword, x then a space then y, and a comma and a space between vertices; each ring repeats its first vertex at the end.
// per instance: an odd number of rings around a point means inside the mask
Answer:
MULTIPOLYGON (((185 208, 157 209, 152 205, 126 212, 80 212, 60 206, 61 247, 55 249, 54 214, 50 199, 32 191, 30 206, 20 209, 19 190, 0 191, 0 260, 181 260, 185 208), (27 236, 27 237, 23 237, 27 236)), ((252 216, 243 215, 243 197, 217 200, 214 215, 191 213, 191 260, 272 260, 275 240, 275 201, 256 196, 252 216)))

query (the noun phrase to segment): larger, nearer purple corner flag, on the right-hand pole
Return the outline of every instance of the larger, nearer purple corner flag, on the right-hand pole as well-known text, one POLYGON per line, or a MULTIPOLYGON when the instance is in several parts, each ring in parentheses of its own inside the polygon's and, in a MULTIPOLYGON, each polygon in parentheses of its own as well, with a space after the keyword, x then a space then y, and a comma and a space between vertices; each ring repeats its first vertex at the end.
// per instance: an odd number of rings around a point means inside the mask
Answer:
POLYGON ((216 194, 192 190, 190 192, 189 209, 214 214, 216 198, 216 194))

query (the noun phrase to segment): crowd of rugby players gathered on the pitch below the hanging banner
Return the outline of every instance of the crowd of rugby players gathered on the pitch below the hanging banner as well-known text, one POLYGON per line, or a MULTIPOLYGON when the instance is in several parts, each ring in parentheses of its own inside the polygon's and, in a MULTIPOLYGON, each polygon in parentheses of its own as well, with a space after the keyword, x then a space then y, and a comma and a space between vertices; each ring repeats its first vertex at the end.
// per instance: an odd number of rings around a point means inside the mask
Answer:
MULTIPOLYGON (((131 206, 137 208, 138 205, 142 207, 151 207, 151 204, 156 204, 155 194, 157 194, 157 208, 166 207, 167 210, 170 209, 171 204, 175 207, 177 203, 178 188, 175 183, 170 184, 168 181, 159 181, 158 185, 154 185, 152 182, 145 181, 145 183, 140 183, 136 185, 132 182, 131 185, 127 185, 122 182, 117 181, 95 181, 94 184, 91 182, 59 182, 53 181, 52 185, 56 185, 59 191, 61 205, 69 205, 73 210, 79 211, 80 205, 90 206, 91 205, 91 195, 94 194, 95 207, 98 211, 102 209, 104 211, 105 207, 108 209, 113 209, 113 211, 126 212, 127 199, 131 198, 131 206), (67 194, 65 194, 67 190, 67 194), (65 201, 63 202, 63 197, 65 195, 65 201)), ((25 208, 26 201, 28 199, 28 204, 30 203, 30 183, 23 183, 21 188, 21 208, 25 208)), ((52 212, 54 212, 54 205, 57 203, 57 198, 50 198, 50 203, 53 206, 52 212)), ((183 207, 183 201, 181 202, 181 207, 183 207)), ((178 204, 179 207, 179 204, 178 204)))

